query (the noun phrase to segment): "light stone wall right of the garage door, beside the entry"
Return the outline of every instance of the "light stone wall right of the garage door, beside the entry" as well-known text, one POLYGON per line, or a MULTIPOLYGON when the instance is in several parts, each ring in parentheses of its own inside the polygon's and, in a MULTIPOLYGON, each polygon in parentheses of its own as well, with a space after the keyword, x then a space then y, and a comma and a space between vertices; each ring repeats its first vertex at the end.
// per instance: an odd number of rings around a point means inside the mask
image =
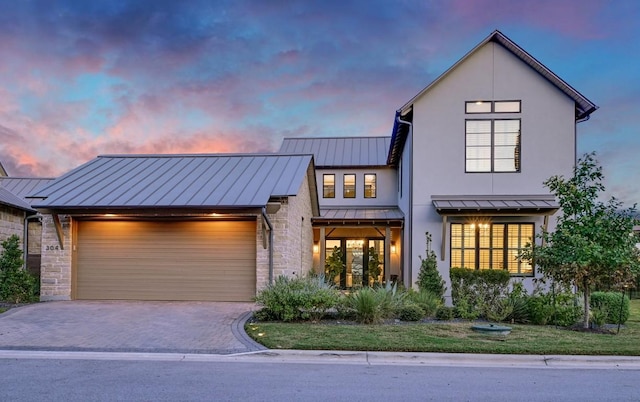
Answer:
MULTIPOLYGON (((280 201, 280 209, 269 214, 273 226, 273 278, 279 275, 306 275, 313 266, 313 229, 308 179, 298 195, 280 201)), ((269 248, 263 248, 262 217, 257 226, 257 290, 269 283, 269 248)), ((267 236, 269 234, 267 233, 267 236)), ((268 242, 267 242, 268 244, 268 242)))

